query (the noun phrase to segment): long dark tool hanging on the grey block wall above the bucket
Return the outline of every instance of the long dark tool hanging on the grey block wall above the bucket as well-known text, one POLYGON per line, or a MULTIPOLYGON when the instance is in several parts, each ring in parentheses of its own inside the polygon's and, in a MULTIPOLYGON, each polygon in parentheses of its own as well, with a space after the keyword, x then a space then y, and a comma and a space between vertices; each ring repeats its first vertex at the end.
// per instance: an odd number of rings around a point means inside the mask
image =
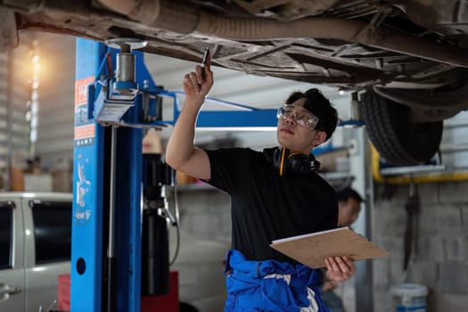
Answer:
POLYGON ((406 271, 413 248, 415 251, 417 250, 418 217, 421 209, 419 193, 417 191, 417 185, 415 185, 413 175, 410 177, 408 198, 406 200, 405 209, 406 228, 403 270, 406 271))

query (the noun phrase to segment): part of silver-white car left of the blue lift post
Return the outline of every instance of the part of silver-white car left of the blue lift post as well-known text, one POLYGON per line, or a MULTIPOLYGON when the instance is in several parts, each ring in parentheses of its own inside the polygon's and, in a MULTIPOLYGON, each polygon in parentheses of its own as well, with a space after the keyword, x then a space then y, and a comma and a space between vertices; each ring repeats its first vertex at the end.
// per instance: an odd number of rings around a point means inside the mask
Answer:
POLYGON ((0 311, 55 308, 70 242, 70 193, 0 193, 0 311))

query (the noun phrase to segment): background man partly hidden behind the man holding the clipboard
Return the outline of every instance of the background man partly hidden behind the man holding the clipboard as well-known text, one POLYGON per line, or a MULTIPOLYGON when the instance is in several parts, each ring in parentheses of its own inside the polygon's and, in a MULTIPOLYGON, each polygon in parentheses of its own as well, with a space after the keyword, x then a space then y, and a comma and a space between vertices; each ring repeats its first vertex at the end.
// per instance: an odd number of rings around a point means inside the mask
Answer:
MULTIPOLYGON (((336 198, 339 209, 338 226, 351 226, 361 211, 362 197, 352 188, 345 187, 336 192, 336 198)), ((332 308, 333 312, 344 311, 341 298, 333 292, 337 286, 337 283, 332 281, 324 282, 322 286, 322 300, 328 308, 332 308)))

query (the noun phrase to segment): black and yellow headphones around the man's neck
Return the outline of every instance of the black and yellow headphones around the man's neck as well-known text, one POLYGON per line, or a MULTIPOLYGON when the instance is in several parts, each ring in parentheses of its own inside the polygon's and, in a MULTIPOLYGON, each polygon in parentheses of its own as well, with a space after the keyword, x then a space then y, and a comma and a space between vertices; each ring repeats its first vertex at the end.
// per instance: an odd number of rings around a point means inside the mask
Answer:
POLYGON ((312 154, 291 152, 284 147, 267 148, 263 150, 263 153, 268 162, 278 170, 280 176, 309 173, 320 168, 320 162, 312 154))

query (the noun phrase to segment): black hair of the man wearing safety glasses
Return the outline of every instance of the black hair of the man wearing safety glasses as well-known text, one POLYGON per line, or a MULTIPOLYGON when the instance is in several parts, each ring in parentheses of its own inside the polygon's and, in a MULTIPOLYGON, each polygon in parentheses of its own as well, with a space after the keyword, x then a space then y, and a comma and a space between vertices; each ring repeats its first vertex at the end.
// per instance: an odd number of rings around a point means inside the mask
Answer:
POLYGON ((304 108, 318 118, 316 130, 324 131, 325 141, 328 140, 336 129, 338 124, 338 112, 332 103, 316 88, 308 89, 305 93, 293 92, 286 100, 286 104, 294 103, 300 99, 306 99, 304 108))

